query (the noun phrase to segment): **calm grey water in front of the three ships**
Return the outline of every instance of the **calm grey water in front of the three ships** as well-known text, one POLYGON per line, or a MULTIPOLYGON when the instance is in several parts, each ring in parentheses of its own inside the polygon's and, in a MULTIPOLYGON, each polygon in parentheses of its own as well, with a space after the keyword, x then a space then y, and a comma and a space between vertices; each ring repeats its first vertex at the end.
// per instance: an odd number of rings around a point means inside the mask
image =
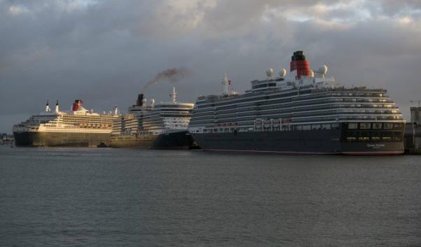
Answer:
POLYGON ((421 157, 0 146, 0 246, 421 246, 421 157))

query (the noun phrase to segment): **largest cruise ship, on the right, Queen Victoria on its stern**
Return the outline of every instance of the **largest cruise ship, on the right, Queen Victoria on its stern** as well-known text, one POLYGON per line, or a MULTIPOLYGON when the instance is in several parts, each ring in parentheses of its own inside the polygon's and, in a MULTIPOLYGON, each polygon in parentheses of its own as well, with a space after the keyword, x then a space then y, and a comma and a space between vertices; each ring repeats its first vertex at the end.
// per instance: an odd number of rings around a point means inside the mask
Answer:
POLYGON ((289 73, 273 69, 251 90, 198 97, 189 131, 204 150, 256 153, 398 155, 405 120, 384 89, 345 87, 310 69, 303 51, 289 73))

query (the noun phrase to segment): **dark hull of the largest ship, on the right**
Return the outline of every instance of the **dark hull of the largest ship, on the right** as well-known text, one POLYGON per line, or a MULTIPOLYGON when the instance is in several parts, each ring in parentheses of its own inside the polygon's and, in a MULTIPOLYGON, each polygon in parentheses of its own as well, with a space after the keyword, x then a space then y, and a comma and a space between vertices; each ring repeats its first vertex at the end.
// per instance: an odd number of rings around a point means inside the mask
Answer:
POLYGON ((402 141, 346 142, 340 129, 294 132, 194 133, 203 150, 283 154, 399 155, 402 141))

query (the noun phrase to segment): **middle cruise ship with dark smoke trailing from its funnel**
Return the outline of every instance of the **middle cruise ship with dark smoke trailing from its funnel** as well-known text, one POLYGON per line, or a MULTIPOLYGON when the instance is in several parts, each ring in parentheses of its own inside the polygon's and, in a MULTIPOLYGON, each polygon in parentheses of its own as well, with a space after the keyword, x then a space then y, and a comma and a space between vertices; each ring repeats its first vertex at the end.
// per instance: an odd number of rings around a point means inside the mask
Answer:
POLYGON ((193 139, 188 133, 188 122, 194 104, 177 101, 172 92, 172 102, 150 104, 139 94, 136 104, 128 113, 113 122, 111 146, 113 148, 186 149, 193 139))

